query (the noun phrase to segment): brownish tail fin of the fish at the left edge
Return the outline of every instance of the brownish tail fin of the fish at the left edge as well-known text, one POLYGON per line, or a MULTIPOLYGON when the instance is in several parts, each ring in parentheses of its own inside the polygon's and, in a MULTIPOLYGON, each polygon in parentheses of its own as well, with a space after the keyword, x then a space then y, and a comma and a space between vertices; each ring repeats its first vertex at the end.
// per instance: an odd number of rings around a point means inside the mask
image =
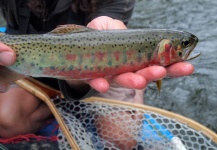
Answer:
POLYGON ((7 92, 11 84, 22 78, 25 78, 25 76, 7 67, 0 66, 0 93, 7 92))

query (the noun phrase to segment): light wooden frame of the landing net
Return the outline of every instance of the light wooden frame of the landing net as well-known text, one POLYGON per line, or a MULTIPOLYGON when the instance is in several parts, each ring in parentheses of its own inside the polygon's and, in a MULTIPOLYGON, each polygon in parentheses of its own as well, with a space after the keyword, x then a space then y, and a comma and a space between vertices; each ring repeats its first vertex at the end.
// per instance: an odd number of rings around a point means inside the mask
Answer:
MULTIPOLYGON (((62 97, 62 94, 59 91, 56 91, 32 78, 27 78, 27 79, 22 79, 16 81, 16 84, 19 85, 20 87, 26 89, 33 95, 39 97, 41 100, 43 100, 53 113, 54 117, 56 118, 57 122, 59 123, 59 126, 65 135, 70 147, 73 150, 80 150, 77 142, 75 141, 74 137, 69 131, 69 128, 67 127, 66 123, 64 122, 63 118, 61 117, 61 114, 59 113, 58 109, 56 108, 55 104, 53 103, 52 99, 53 98, 59 98, 62 97)), ((138 109, 143 109, 145 111, 151 111, 157 114, 160 114, 162 116, 166 116, 171 119, 175 119, 178 122, 186 125, 187 127, 190 127, 200 133, 202 133, 205 137, 211 139, 215 144, 217 144, 217 134, 213 132, 212 130, 208 129, 207 127, 199 124, 198 122, 189 119, 187 117, 184 117, 182 115, 169 112, 167 110, 163 110, 160 108, 156 107, 151 107, 147 105, 140 105, 140 104, 132 104, 132 103, 127 103, 127 102, 122 102, 122 101, 117 101, 117 100, 111 100, 111 99, 105 99, 105 98, 99 98, 99 97, 90 97, 85 100, 84 102, 90 102, 90 103, 96 103, 96 102, 103 102, 103 103, 108 103, 108 104, 113 104, 113 105, 124 105, 124 106, 129 106, 129 107, 134 107, 138 109)))

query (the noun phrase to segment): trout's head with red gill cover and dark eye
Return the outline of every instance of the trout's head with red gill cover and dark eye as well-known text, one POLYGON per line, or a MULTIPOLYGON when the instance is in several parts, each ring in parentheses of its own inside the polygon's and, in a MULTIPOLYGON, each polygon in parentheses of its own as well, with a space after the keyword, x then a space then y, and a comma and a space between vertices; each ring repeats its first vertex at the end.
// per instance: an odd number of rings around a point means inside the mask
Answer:
POLYGON ((189 58, 189 55, 198 43, 198 38, 187 32, 177 32, 172 38, 161 40, 158 45, 158 61, 163 66, 176 62, 194 59, 200 53, 189 58))

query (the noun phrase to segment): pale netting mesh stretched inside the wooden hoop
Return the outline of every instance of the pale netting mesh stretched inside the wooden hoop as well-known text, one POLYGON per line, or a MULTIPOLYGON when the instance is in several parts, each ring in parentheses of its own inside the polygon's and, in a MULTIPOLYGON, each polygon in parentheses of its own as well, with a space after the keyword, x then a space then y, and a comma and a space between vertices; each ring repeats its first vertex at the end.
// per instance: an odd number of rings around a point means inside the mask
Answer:
MULTIPOLYGON (((163 115, 105 102, 53 100, 81 150, 216 150, 199 131, 163 115)), ((71 149, 62 131, 59 148, 71 149)))

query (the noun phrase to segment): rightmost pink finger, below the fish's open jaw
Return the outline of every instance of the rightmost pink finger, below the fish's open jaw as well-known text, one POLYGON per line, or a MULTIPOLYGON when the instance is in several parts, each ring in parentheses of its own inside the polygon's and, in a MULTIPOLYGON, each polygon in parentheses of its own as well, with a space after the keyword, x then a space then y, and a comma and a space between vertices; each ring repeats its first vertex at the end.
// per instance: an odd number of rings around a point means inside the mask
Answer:
POLYGON ((181 77, 191 75, 194 72, 194 66, 188 62, 179 62, 167 67, 167 76, 181 77))

